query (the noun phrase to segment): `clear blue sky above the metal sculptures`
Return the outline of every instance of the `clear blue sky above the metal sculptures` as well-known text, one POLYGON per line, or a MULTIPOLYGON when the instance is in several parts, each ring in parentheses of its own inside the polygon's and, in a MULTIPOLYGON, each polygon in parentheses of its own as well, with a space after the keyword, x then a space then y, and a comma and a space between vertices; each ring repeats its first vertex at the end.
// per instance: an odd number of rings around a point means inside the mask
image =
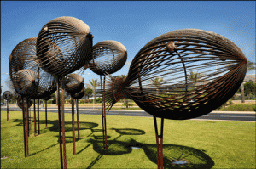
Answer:
MULTIPOLYGON (((216 32, 255 62, 254 1, 1 1, 1 86, 9 76, 9 55, 26 38, 38 37, 52 19, 73 16, 90 26, 93 43, 114 40, 127 48, 128 59, 168 31, 185 28, 216 32)), ((113 75, 127 74, 126 66, 113 75)), ((254 73, 250 72, 249 74, 254 73)), ((98 78, 85 70, 84 82, 98 78), (89 73, 89 75, 88 75, 89 73), (85 75, 87 74, 87 75, 85 75)))

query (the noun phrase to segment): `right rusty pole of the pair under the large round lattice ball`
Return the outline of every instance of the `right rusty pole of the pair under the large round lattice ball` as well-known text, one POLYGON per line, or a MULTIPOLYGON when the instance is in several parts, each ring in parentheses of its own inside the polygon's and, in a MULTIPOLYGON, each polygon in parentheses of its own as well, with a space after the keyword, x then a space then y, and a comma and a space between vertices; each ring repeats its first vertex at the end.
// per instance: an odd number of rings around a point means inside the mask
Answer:
MULTIPOLYGON (((61 82, 64 82, 64 76, 61 82)), ((63 161, 64 168, 67 168, 67 157, 66 157, 66 141, 65 141, 65 118, 64 118, 64 88, 61 88, 61 122, 62 122, 62 143, 63 143, 63 161)))

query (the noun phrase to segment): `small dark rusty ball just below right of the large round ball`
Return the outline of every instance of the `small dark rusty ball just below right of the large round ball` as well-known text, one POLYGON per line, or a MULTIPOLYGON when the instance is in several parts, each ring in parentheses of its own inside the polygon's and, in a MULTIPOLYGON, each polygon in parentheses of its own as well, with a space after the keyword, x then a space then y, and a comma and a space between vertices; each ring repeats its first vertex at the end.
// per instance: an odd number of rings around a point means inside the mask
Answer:
POLYGON ((69 94, 79 93, 84 88, 84 78, 78 74, 69 74, 64 78, 62 85, 69 94))

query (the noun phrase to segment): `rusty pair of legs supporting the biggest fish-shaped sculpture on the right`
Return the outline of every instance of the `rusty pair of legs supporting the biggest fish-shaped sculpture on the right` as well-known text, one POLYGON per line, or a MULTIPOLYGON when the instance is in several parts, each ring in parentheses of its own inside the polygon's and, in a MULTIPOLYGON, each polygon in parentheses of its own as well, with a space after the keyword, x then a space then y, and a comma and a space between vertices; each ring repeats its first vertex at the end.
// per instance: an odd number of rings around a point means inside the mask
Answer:
POLYGON ((164 168, 164 161, 163 161, 163 131, 164 131, 164 118, 161 118, 161 126, 160 126, 160 135, 158 134, 157 129, 157 121, 156 117, 154 116, 154 130, 155 130, 155 137, 156 137, 156 146, 157 146, 157 161, 158 161, 158 168, 164 168), (160 141, 160 145, 159 145, 160 141))

